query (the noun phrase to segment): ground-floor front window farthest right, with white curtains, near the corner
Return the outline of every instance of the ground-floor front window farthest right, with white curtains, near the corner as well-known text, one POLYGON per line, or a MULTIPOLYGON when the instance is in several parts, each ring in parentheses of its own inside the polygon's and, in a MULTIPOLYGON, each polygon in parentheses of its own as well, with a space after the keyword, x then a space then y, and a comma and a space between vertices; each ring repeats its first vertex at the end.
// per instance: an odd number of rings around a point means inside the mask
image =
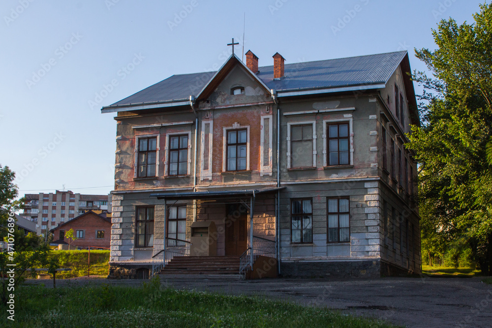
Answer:
POLYGON ((348 198, 328 199, 328 242, 350 241, 350 206, 348 198))

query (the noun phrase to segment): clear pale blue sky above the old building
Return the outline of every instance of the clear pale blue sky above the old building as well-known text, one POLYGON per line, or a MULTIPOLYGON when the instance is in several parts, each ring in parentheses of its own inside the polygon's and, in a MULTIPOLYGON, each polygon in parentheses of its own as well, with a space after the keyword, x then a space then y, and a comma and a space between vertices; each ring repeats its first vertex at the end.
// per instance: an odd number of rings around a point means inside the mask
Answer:
POLYGON ((231 38, 242 40, 245 13, 244 49, 260 66, 276 52, 292 63, 407 49, 412 69, 424 70, 413 49, 434 48, 431 29, 442 18, 471 23, 479 3, 2 0, 0 164, 17 172, 21 195, 63 184, 110 192, 116 122, 100 108, 173 74, 221 65, 231 38), (103 91, 113 79, 118 85, 103 91))

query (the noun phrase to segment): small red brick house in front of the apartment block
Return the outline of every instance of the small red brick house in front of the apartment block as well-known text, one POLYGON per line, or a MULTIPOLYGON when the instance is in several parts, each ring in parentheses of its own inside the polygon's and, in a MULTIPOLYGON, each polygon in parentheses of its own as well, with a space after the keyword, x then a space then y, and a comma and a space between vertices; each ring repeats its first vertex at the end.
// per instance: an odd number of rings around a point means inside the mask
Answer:
POLYGON ((109 248, 111 243, 111 220, 93 211, 85 212, 50 230, 55 235, 53 244, 68 244, 65 232, 73 229, 77 238, 71 249, 88 249, 89 246, 109 248))

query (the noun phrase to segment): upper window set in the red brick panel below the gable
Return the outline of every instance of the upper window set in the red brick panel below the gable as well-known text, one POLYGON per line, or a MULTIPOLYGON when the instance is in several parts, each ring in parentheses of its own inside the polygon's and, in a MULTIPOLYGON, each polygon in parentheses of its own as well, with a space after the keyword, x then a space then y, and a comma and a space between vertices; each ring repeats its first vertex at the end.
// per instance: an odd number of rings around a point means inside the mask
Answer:
POLYGON ((246 170, 247 130, 227 131, 227 171, 246 170))

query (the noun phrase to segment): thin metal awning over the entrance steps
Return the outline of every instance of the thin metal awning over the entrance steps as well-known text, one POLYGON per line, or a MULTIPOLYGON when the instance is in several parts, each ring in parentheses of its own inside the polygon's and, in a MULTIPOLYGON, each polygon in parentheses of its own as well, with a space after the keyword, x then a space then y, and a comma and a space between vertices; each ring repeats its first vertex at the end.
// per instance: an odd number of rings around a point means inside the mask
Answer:
POLYGON ((178 193, 154 193, 150 197, 166 200, 184 200, 184 199, 210 199, 210 198, 238 198, 250 197, 257 194, 272 193, 285 187, 263 188, 263 189, 230 189, 217 191, 196 191, 196 192, 178 192, 178 193))

